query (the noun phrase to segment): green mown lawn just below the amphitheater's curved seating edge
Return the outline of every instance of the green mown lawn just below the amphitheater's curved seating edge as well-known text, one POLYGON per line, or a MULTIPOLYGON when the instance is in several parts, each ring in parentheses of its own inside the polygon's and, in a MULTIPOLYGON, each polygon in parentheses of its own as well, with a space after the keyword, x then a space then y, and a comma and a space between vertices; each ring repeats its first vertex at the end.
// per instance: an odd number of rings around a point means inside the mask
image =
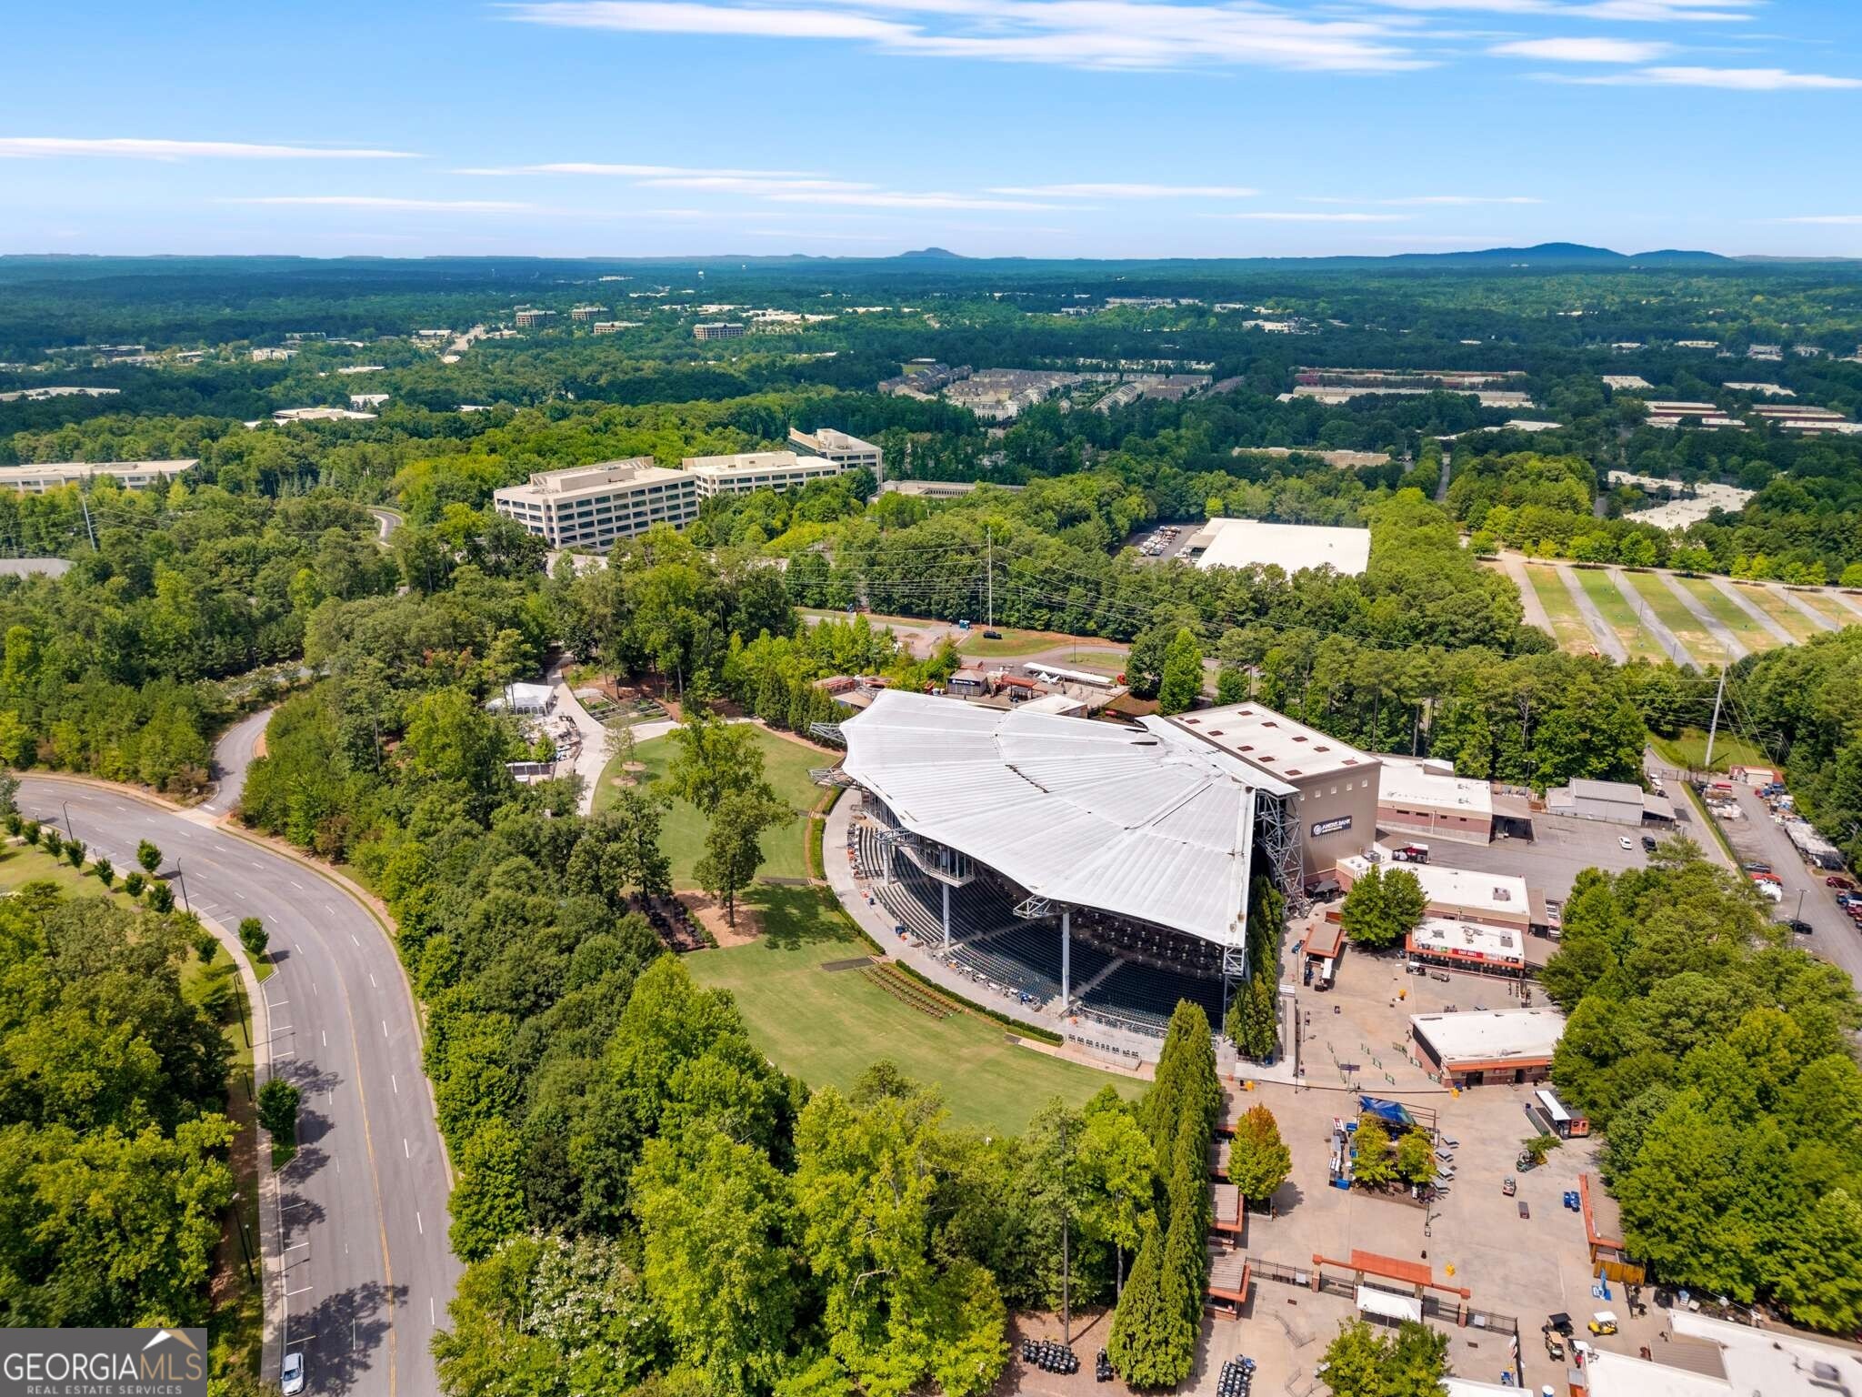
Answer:
POLYGON ((1022 1131, 1054 1097, 1084 1103, 1108 1082, 1136 1097, 1143 1084, 1050 1058, 1005 1039, 994 1019, 933 1019, 825 961, 870 954, 827 888, 749 894, 765 933, 749 944, 700 950, 685 965, 706 985, 735 995, 750 1038, 771 1062, 810 1086, 847 1088, 873 1062, 944 1093, 951 1118, 985 1131, 1022 1131))

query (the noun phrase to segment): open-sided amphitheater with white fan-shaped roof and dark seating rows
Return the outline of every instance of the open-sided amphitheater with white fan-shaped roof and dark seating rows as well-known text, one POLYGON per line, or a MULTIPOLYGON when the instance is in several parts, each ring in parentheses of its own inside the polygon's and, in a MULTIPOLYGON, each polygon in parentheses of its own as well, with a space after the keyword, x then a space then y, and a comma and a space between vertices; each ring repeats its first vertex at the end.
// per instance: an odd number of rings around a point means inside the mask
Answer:
POLYGON ((1298 790, 1169 719, 884 691, 840 734, 853 900, 1009 1017, 1154 1043, 1188 998, 1220 1024, 1251 877, 1300 892, 1298 790))

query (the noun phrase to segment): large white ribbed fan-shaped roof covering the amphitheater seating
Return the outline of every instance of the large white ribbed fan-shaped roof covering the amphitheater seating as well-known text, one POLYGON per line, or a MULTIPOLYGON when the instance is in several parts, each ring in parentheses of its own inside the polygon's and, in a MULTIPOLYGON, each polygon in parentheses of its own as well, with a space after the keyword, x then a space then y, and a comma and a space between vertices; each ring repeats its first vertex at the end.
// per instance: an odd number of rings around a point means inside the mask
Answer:
POLYGON ((1290 786, 1143 728, 886 689, 842 723, 845 771, 911 833, 1028 892, 1246 941, 1255 790, 1290 786))

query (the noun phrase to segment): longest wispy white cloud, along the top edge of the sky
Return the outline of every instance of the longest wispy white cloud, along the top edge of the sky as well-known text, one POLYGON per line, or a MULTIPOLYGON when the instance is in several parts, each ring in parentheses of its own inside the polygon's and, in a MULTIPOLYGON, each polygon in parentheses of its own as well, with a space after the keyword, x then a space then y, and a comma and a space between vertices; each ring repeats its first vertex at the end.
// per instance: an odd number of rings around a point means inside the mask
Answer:
POLYGON ((741 0, 534 0, 527 24, 864 43, 884 52, 1086 69, 1283 67, 1389 73, 1430 67, 1404 24, 1307 19, 1264 4, 1143 0, 847 0, 845 7, 741 0))

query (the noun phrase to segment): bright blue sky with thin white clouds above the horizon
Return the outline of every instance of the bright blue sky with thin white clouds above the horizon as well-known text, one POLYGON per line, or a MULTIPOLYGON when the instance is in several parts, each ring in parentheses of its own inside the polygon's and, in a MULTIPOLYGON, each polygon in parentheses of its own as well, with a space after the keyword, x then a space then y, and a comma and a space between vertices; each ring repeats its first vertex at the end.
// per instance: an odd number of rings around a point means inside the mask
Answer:
POLYGON ((0 251, 1862 255, 1856 0, 19 6, 0 251))

